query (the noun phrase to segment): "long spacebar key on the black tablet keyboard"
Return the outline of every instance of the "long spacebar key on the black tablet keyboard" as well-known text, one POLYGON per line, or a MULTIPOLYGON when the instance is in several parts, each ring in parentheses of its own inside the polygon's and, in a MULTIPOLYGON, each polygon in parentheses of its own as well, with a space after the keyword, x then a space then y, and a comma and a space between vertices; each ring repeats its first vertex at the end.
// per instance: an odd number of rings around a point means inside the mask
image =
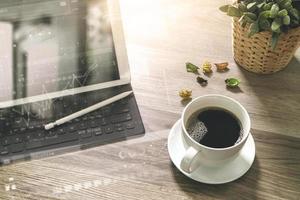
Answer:
POLYGON ((45 138, 43 140, 33 140, 26 144, 27 149, 35 149, 39 147, 64 143, 64 142, 70 142, 78 139, 77 134, 64 134, 59 135, 58 137, 53 138, 45 138))

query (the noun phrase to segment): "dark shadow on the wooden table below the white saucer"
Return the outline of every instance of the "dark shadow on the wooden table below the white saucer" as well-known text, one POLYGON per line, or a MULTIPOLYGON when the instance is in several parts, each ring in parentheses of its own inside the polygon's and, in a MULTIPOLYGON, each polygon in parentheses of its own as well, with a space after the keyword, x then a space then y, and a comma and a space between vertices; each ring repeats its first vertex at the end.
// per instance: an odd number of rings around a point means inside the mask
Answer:
POLYGON ((260 179, 260 167, 257 158, 244 176, 233 182, 219 185, 194 181, 182 174, 173 164, 170 165, 170 168, 175 182, 190 199, 199 199, 201 196, 220 199, 257 199, 260 179))

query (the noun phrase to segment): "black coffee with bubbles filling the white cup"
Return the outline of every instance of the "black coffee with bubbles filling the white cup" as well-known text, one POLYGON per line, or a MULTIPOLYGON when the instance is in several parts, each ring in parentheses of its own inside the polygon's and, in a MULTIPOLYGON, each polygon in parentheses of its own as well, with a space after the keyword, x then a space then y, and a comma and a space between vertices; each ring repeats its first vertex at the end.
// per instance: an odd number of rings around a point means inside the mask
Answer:
POLYGON ((187 122, 190 136, 207 147, 226 148, 243 137, 240 121, 222 108, 206 108, 194 113, 187 122))

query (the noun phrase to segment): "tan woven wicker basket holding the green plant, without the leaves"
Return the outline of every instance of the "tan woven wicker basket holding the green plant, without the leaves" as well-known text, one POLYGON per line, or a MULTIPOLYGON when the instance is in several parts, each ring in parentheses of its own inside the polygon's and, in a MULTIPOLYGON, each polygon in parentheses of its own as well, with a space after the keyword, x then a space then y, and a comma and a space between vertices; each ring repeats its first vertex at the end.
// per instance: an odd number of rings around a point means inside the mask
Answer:
POLYGON ((233 21, 234 59, 248 71, 271 74, 285 68, 300 45, 300 27, 282 34, 274 51, 271 32, 260 32, 249 38, 248 27, 233 21))

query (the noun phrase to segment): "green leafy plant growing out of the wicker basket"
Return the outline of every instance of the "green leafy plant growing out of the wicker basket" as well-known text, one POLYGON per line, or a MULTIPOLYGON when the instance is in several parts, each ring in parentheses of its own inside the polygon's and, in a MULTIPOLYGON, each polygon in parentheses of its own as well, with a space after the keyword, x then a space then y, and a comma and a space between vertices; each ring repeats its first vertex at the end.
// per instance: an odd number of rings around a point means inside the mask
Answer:
POLYGON ((282 33, 300 26, 298 4, 296 0, 239 0, 221 6, 220 10, 237 17, 242 27, 249 25, 249 37, 262 31, 272 32, 271 47, 274 50, 282 33))

